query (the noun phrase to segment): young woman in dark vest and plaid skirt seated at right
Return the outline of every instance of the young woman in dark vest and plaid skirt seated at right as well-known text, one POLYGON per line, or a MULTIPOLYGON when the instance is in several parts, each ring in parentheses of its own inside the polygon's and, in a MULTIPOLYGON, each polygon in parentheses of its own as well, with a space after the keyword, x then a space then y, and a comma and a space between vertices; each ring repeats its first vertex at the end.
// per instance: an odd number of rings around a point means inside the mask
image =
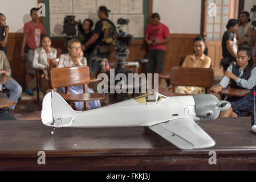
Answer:
POLYGON ((228 97, 231 107, 221 113, 221 117, 243 117, 251 114, 254 108, 254 90, 256 89, 256 68, 251 58, 251 47, 240 46, 237 51, 237 65, 230 65, 222 78, 220 85, 214 89, 215 93, 225 89, 231 81, 231 88, 251 90, 245 97, 228 97))

